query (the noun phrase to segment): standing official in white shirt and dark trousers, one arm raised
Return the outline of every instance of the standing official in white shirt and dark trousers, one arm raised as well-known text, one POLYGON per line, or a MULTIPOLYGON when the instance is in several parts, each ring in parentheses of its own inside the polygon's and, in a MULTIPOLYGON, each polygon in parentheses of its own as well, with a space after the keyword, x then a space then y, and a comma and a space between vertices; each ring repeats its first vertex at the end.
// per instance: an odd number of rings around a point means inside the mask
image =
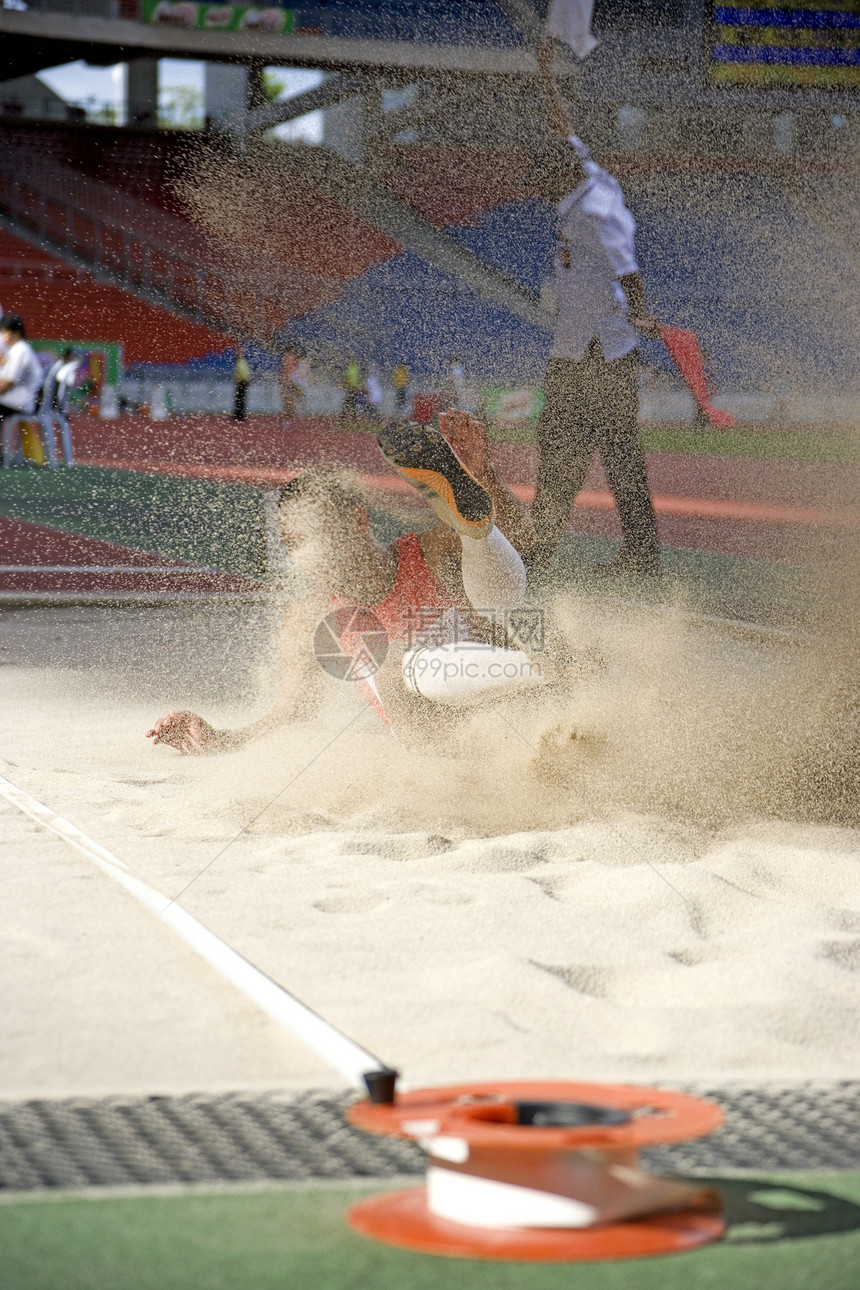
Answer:
POLYGON ((556 138, 533 160, 529 182, 557 203, 554 289, 558 319, 538 422, 536 546, 530 569, 551 568, 594 450, 621 521, 616 557, 601 569, 654 575, 660 547, 638 436, 636 346, 658 335, 636 262, 636 222, 620 184, 592 161, 558 93, 553 43, 538 62, 556 138))

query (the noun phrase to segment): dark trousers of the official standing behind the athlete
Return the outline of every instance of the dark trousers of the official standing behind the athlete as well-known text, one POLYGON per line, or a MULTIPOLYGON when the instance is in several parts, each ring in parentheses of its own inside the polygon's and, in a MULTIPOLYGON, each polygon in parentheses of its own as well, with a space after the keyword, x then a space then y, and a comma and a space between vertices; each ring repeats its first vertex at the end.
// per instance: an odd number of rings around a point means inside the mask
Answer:
POLYGON ((654 569, 660 544, 640 444, 634 352, 606 362, 593 339, 580 360, 551 359, 544 397, 531 510, 538 534, 535 565, 552 561, 597 450, 621 521, 620 555, 636 566, 654 569))

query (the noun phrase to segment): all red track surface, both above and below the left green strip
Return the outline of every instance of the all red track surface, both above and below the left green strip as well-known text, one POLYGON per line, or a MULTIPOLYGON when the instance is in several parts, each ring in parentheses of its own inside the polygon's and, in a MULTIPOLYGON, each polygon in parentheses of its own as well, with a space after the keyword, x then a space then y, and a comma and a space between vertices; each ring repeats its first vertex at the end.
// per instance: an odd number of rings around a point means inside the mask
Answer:
MULTIPOLYGON (((371 485, 422 506, 382 459, 370 433, 334 430, 324 418, 285 426, 281 418, 173 418, 152 423, 77 418, 79 461, 92 466, 191 475, 277 488, 297 470, 339 464, 371 485)), ((534 445, 498 444, 500 475, 533 495, 534 445)), ((654 453, 649 475, 665 546, 792 562, 842 553, 860 529, 860 468, 821 462, 654 453)), ((579 494, 571 531, 619 535, 618 516, 596 463, 579 494)), ((0 516, 0 595, 236 595, 253 580, 201 570, 93 538, 0 516)))

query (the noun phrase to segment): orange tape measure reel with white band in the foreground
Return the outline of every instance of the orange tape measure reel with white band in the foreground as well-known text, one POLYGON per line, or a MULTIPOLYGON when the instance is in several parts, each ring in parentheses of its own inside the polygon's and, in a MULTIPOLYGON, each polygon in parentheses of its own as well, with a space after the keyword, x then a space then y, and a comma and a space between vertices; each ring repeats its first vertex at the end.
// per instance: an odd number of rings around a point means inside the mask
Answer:
POLYGON ((427 1186, 349 1210, 387 1245, 453 1258, 597 1260, 669 1254, 725 1231, 714 1192, 640 1167, 638 1152, 713 1133, 722 1112, 629 1085, 500 1082, 360 1102, 352 1124, 411 1138, 427 1186))

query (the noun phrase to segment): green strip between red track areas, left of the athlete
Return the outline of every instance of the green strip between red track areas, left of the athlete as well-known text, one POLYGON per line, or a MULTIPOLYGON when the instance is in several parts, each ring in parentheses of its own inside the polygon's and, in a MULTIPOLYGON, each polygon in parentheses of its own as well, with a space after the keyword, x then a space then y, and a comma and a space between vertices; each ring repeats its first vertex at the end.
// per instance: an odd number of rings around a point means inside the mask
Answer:
POLYGON ((92 466, 4 471, 1 482, 0 515, 250 578, 264 573, 257 489, 92 466))

